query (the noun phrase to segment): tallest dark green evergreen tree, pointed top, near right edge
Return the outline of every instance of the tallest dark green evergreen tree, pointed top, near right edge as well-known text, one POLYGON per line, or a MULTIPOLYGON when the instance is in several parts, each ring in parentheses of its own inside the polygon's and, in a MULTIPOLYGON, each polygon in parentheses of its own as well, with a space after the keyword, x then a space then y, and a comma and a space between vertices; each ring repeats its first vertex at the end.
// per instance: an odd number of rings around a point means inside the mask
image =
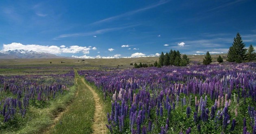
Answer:
POLYGON ((247 60, 245 44, 242 41, 241 36, 237 32, 236 37, 234 38, 232 46, 228 50, 227 61, 242 63, 247 60))

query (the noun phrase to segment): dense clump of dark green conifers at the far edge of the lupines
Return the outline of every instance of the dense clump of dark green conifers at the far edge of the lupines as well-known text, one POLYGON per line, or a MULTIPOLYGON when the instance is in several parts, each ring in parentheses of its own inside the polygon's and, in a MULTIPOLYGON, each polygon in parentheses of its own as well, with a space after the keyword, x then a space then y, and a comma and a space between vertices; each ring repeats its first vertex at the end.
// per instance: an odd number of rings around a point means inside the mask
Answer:
POLYGON ((179 50, 171 50, 169 53, 161 53, 158 64, 160 67, 169 65, 187 66, 187 64, 189 64, 189 58, 186 54, 184 54, 181 58, 179 50))

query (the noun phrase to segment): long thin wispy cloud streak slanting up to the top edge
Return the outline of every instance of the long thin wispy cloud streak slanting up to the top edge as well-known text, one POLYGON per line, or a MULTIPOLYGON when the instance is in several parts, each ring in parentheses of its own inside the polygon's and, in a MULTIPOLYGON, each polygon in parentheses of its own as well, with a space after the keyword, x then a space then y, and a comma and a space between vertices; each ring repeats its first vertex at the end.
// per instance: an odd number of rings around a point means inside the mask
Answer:
POLYGON ((136 13, 139 13, 139 12, 142 12, 142 11, 146 11, 146 10, 155 8, 157 6, 160 6, 160 5, 165 4, 165 3, 169 2, 169 1, 170 0, 161 0, 160 2, 154 3, 153 5, 146 6, 144 8, 137 9, 137 10, 134 10, 134 11, 126 12, 126 13, 123 13, 121 15, 116 15, 116 16, 108 17, 108 18, 102 19, 102 20, 100 20, 98 22, 93 22, 92 24, 101 24, 101 23, 104 23, 104 22, 110 22, 110 21, 113 21, 115 19, 119 19, 121 17, 126 17, 126 16, 129 16, 129 15, 134 15, 136 13))

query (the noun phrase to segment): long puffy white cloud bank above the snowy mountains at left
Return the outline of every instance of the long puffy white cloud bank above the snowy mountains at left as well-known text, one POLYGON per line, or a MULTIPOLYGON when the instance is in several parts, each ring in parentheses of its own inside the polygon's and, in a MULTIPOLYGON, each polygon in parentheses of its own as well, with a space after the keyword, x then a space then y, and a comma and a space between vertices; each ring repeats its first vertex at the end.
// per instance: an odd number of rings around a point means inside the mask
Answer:
POLYGON ((72 45, 69 47, 66 47, 65 45, 61 45, 60 47, 56 45, 23 45, 22 43, 11 43, 11 44, 4 44, 2 51, 8 51, 8 50, 32 50, 35 52, 46 52, 50 54, 61 54, 61 53, 79 53, 83 52, 84 54, 89 54, 89 50, 96 50, 96 47, 91 48, 91 46, 87 47, 81 47, 78 45, 72 45))

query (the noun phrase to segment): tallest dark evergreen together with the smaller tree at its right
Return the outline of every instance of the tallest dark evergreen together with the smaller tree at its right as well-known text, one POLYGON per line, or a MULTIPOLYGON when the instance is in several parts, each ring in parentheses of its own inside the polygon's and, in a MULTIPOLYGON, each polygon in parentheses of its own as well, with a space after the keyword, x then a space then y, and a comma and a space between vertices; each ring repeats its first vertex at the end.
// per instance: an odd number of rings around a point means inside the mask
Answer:
POLYGON ((227 61, 242 63, 245 61, 254 61, 256 59, 256 54, 252 44, 249 46, 248 51, 245 48, 245 43, 239 33, 236 34, 232 46, 228 50, 227 61))

